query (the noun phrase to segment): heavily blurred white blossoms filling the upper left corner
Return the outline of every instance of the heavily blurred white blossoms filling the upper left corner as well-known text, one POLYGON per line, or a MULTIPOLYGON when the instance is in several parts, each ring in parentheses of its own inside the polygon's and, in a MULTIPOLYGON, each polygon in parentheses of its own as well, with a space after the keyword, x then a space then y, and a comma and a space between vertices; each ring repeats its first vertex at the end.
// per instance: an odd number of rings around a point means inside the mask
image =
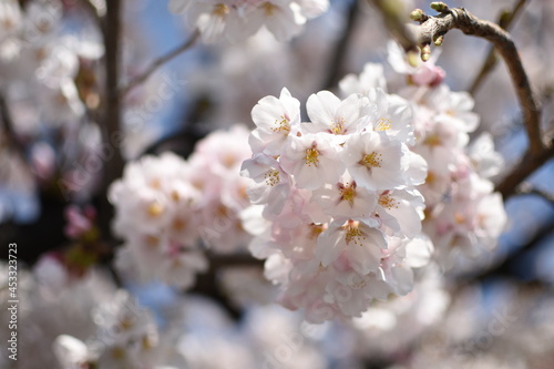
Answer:
MULTIPOLYGON (((100 34, 64 33, 60 0, 30 1, 24 8, 20 3, 0 4, 0 88, 13 106, 18 129, 35 133, 39 122, 76 122, 85 104, 75 81, 88 69, 83 65, 102 57, 100 34)), ((86 103, 96 106, 98 96, 90 99, 86 103)))

